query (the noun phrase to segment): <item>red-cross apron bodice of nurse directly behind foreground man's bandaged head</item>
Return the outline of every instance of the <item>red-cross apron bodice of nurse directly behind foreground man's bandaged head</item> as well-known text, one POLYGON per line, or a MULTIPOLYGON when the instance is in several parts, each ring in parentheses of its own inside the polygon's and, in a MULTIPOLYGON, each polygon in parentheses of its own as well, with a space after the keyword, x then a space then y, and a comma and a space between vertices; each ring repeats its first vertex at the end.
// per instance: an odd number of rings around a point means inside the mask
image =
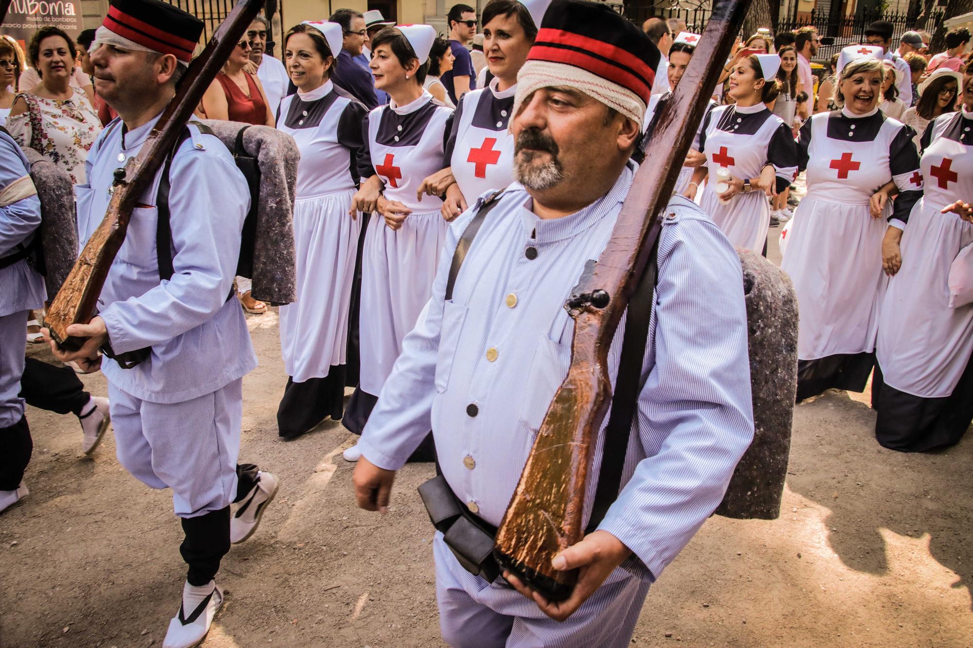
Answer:
POLYGON ((517 86, 501 92, 499 83, 493 78, 488 87, 460 97, 451 120, 445 165, 452 167, 469 205, 484 193, 514 182, 514 135, 507 126, 517 86))

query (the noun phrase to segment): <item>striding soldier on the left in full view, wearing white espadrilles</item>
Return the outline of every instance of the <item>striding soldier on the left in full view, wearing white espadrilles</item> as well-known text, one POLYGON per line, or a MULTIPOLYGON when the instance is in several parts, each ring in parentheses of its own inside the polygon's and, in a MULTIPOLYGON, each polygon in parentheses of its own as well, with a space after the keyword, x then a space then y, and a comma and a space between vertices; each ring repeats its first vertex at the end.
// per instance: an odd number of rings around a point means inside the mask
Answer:
MULTIPOLYGON (((75 187, 80 245, 105 215, 115 171, 139 154, 174 96, 201 32, 201 20, 162 0, 115 0, 108 10, 91 63, 95 90, 119 117, 91 146, 90 184, 75 187)), ((186 130, 138 199, 98 315, 67 329, 88 341, 77 352, 51 342, 61 360, 86 367, 104 350, 119 461, 146 486, 172 489, 189 570, 163 648, 195 646, 209 630, 223 602, 214 581, 220 560, 231 542, 254 532, 277 488, 270 473, 236 463, 242 378, 257 366, 231 288, 250 192, 219 138, 196 125, 186 130), (170 186, 167 250, 156 241, 163 171, 170 186), (168 278, 161 277, 162 254, 171 254, 168 278), (141 359, 126 368, 115 359, 122 354, 141 359), (231 517, 234 502, 240 504, 231 517)))

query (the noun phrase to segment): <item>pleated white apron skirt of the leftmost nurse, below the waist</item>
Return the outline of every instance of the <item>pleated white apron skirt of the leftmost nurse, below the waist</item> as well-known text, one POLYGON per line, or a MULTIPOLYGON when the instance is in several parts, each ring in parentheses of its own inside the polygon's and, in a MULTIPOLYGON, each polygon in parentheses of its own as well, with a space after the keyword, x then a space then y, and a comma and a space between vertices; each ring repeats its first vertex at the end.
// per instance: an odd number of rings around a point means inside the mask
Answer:
POLYGON ((295 382, 326 378, 344 364, 348 305, 361 221, 348 215, 355 190, 294 203, 297 302, 280 306, 280 350, 295 382))

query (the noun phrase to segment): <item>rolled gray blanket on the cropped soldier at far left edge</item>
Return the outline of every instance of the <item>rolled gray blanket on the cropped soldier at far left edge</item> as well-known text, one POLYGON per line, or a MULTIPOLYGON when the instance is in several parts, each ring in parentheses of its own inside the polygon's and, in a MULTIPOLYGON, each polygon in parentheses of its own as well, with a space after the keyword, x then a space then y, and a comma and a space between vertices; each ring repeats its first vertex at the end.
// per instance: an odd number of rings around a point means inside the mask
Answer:
POLYGON ((48 299, 53 300, 78 258, 78 222, 71 176, 33 149, 24 149, 41 201, 41 246, 48 299))

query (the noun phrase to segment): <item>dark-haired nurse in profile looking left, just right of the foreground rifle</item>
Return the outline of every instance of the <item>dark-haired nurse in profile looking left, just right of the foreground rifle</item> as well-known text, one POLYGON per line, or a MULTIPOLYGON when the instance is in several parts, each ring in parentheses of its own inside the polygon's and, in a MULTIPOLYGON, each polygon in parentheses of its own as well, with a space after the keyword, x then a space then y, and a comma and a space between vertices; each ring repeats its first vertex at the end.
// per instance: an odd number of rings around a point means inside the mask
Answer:
POLYGON ((771 207, 767 197, 790 186, 797 172, 797 147, 789 124, 766 102, 780 89, 780 57, 750 54, 730 74, 729 95, 737 103, 717 106, 703 118, 700 151, 686 196, 696 198, 708 174, 700 206, 730 242, 760 254, 766 250, 771 207))

